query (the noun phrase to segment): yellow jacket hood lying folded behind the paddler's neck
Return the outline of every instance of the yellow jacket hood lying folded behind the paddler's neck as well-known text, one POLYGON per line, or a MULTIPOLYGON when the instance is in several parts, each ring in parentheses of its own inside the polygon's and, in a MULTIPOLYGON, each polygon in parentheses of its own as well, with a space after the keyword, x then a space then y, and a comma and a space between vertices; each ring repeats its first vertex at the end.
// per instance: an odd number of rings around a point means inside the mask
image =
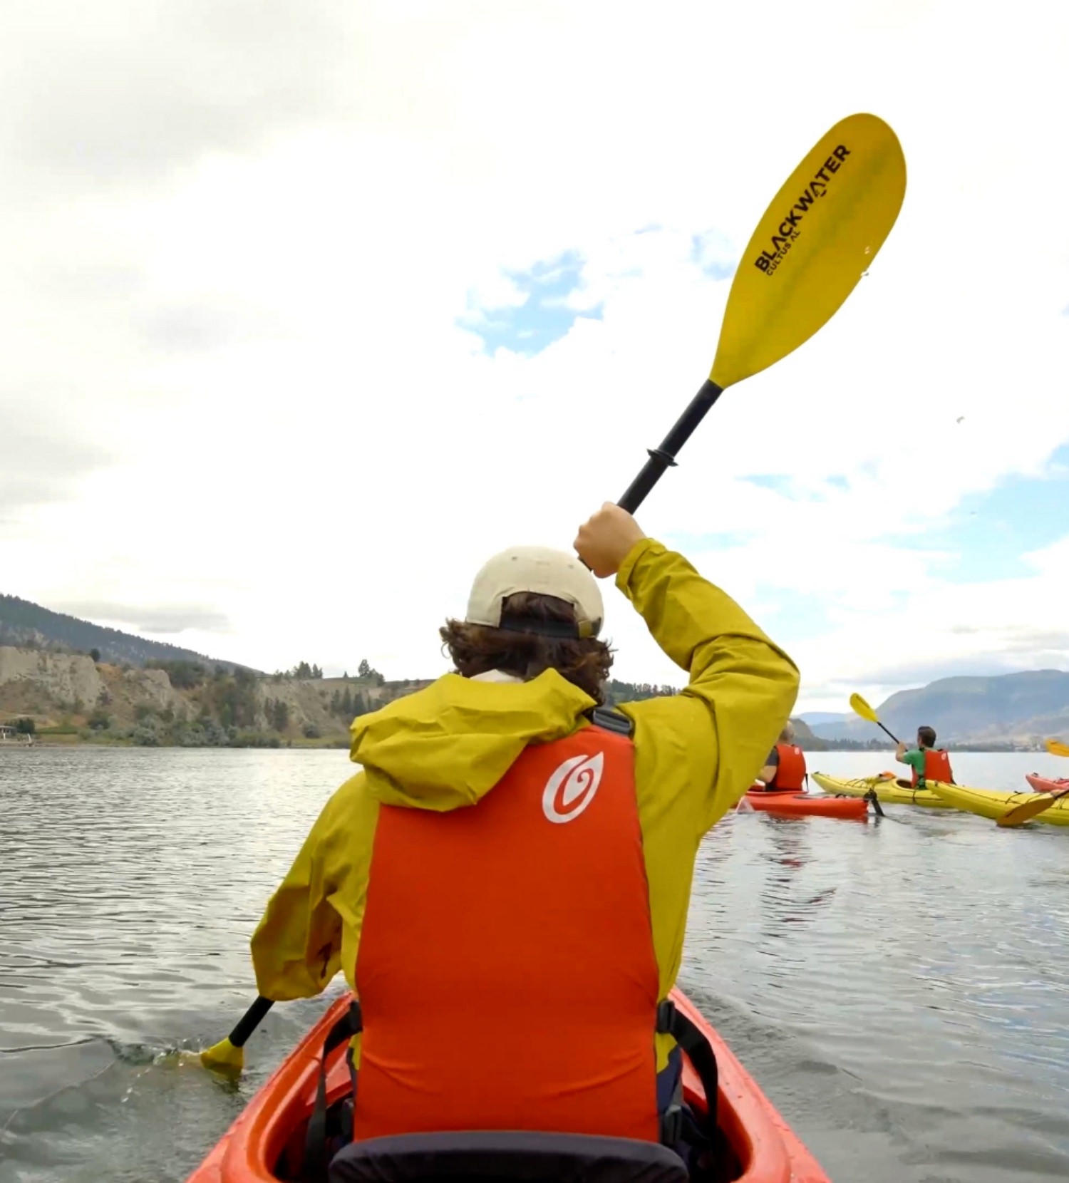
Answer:
POLYGON ((355 719, 349 757, 382 804, 445 813, 475 804, 529 743, 571 735, 596 705, 556 670, 508 683, 447 673, 355 719))

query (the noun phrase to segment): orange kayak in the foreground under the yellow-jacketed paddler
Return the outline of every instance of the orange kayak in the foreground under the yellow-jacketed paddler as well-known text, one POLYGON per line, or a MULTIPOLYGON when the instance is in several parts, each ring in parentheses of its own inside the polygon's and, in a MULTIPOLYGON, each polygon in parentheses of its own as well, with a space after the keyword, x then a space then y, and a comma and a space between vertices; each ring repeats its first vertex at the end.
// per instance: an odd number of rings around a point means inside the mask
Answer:
MULTIPOLYGON (((805 1149, 798 1136, 779 1116, 772 1103, 758 1088, 757 1082, 732 1055, 727 1045, 720 1039, 694 1008, 693 1003, 680 991, 673 990, 672 1000, 676 1008, 692 1020, 710 1040, 715 1052, 719 1066, 718 1124, 727 1144, 733 1151, 738 1169, 732 1171, 732 1178, 738 1183, 831 1183, 817 1161, 805 1149)), ((319 1077, 319 1055, 324 1040, 335 1023, 343 1017, 349 1007, 349 996, 338 998, 323 1015, 318 1023, 305 1035, 278 1069, 252 1098, 245 1111, 237 1118, 216 1146, 208 1153, 203 1163, 189 1176, 187 1183, 276 1183, 278 1179, 294 1178, 292 1163, 294 1156, 300 1156, 304 1145, 305 1127, 309 1113, 316 1099, 316 1086, 319 1077), (281 1164, 289 1162, 290 1170, 281 1164), (278 1174, 277 1174, 278 1172, 278 1174)), ((506 1045, 507 1046, 507 1045, 506 1045)), ((326 1101, 333 1106, 341 1104, 350 1093, 349 1069, 344 1060, 344 1042, 328 1053, 326 1065, 326 1101)), ((705 1095, 689 1060, 683 1061, 683 1093, 687 1103, 695 1110, 705 1110, 705 1095)), ((415 1134, 412 1140, 442 1138, 441 1134, 415 1134)), ((488 1138, 521 1138, 523 1144, 532 1142, 556 1145, 553 1175, 526 1174, 529 1178, 556 1177, 562 1165, 571 1168, 569 1177, 581 1177, 575 1171, 575 1163, 569 1161, 576 1143, 584 1139, 562 1134, 472 1134, 445 1136, 453 1144, 467 1139, 474 1153, 488 1138)), ((382 1150, 381 1164, 372 1164, 378 1172, 367 1175, 368 1178, 432 1178, 434 1174, 419 1176, 401 1175, 396 1171, 397 1145, 409 1142, 408 1138, 376 1138, 364 1143, 364 1153, 376 1153, 375 1143, 390 1143, 382 1150), (391 1164, 394 1169, 391 1170, 391 1164)), ((666 1148, 654 1143, 634 1143, 630 1139, 595 1138, 589 1139, 600 1148, 605 1145, 622 1146, 624 1157, 634 1155, 665 1155, 666 1148)), ((471 1153, 469 1149, 469 1153, 471 1153)), ((681 1177, 686 1177, 682 1161, 675 1156, 668 1157, 679 1164, 681 1177)), ((582 1163, 582 1159, 577 1159, 582 1163)), ((663 1164, 661 1164, 663 1165, 663 1164)), ((604 1170, 602 1161, 601 1169, 604 1170)), ((455 1168, 454 1168, 455 1171, 455 1168)), ((348 1177, 348 1176, 346 1176, 348 1177)), ((356 1177, 356 1176, 354 1176, 356 1177)), ((363 1175, 361 1178, 365 1177, 363 1175)), ((455 1177, 455 1174, 454 1174, 455 1177)), ((598 1178, 608 1177, 598 1175, 598 1178)), ((648 1179, 654 1177, 650 1164, 636 1163, 634 1170, 616 1172, 614 1179, 627 1183, 628 1179, 648 1179)), ((672 1178, 669 1175, 656 1175, 657 1178, 672 1178)))

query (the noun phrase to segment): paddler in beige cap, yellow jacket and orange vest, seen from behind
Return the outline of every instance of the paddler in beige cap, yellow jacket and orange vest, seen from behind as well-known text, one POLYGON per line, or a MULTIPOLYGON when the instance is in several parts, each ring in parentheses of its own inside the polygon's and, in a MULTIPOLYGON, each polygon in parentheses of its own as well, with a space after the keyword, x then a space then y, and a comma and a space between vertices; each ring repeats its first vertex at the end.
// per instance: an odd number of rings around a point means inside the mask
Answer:
POLYGON ((338 970, 358 996, 357 1139, 656 1142, 678 1105, 659 1003, 698 847, 750 787, 798 671, 618 506, 575 549, 590 570, 543 548, 491 558, 441 629, 455 672, 352 723, 363 770, 252 938, 266 997, 319 994, 338 970), (681 693, 602 709, 613 651, 594 576, 615 576, 687 672, 681 693))

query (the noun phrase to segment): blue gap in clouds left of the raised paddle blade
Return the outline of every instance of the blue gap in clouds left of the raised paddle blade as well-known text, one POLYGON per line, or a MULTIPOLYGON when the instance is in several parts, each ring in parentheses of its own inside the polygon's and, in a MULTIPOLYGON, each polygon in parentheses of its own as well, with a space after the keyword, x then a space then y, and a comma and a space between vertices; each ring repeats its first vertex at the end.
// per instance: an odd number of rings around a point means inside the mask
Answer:
POLYGON ((524 293, 524 302, 514 306, 479 309, 478 315, 462 317, 461 323, 482 338, 490 355, 497 349, 508 349, 533 357, 565 336, 578 317, 602 318, 601 304, 582 311, 569 308, 568 297, 582 287, 582 257, 576 251, 565 251, 526 271, 505 271, 504 274, 524 293))

